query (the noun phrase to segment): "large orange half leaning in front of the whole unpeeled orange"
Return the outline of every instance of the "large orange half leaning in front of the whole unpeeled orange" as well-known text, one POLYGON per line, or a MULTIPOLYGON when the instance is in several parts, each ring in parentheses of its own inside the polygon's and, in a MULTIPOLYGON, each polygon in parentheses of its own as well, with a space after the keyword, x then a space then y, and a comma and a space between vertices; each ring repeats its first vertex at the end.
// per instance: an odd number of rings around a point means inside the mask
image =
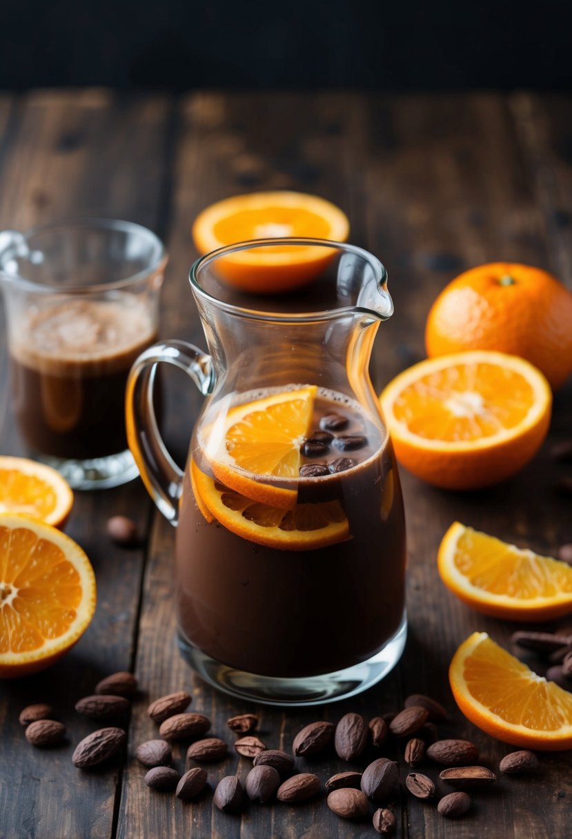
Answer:
POLYGON ((414 364, 380 399, 398 460, 447 489, 486 487, 521 469, 541 446, 552 408, 536 367, 486 350, 414 364))

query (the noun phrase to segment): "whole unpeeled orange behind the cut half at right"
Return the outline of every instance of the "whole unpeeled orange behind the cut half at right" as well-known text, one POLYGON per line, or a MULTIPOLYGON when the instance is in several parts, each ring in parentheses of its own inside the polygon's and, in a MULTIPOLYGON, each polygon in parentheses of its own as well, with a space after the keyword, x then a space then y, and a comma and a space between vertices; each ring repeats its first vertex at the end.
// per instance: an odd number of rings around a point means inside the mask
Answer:
POLYGON ((559 388, 572 372, 572 293, 541 268, 478 265, 434 301, 425 346, 429 357, 463 350, 521 356, 559 388))

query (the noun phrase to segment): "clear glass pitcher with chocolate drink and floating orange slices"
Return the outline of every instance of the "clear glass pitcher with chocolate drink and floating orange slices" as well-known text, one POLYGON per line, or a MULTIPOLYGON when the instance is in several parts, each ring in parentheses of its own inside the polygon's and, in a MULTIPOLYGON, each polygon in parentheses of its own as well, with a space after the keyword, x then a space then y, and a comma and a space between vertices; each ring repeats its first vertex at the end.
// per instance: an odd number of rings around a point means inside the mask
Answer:
POLYGON ((177 526, 179 645, 233 696, 334 701, 375 684, 403 652, 403 503, 368 375, 393 313, 386 279, 377 258, 338 242, 221 248, 190 270, 210 355, 164 341, 129 374, 129 446, 177 526), (300 282, 304 270, 320 277, 272 297, 233 286, 245 264, 268 287, 289 263, 302 266, 300 282), (185 472, 154 419, 159 362, 208 397, 185 472))

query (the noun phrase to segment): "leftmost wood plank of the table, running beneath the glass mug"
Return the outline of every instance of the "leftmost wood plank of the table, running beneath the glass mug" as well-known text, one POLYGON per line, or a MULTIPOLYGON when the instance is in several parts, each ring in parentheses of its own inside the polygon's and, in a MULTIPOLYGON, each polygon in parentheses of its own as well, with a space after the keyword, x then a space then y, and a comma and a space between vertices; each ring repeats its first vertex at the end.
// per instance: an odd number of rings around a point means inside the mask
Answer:
MULTIPOLYGON (((65 216, 117 216, 160 229, 169 102, 123 101, 107 91, 47 91, 18 103, 0 169, 0 223, 25 228, 65 216)), ((3 382, 3 399, 8 389, 3 382)), ((21 451, 12 420, 0 451, 21 451)), ((139 482, 105 493, 78 492, 67 532, 96 571, 96 617, 75 649, 44 674, 0 684, 0 833, 6 839, 85 836, 109 839, 121 769, 88 774, 71 764, 75 743, 97 725, 73 710, 102 675, 129 670, 136 644, 144 551, 112 545, 112 513, 137 520, 149 503, 139 482), (49 701, 68 727, 56 750, 34 749, 18 725, 32 701, 49 701)))

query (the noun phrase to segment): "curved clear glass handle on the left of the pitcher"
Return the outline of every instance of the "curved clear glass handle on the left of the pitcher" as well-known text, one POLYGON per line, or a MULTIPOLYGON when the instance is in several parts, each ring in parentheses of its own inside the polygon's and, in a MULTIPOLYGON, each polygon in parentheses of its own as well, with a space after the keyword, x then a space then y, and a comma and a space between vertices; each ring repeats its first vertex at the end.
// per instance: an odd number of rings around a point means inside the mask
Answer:
POLYGON ((149 495, 165 519, 176 526, 183 472, 164 445, 153 409, 153 381, 160 362, 184 370, 203 396, 211 393, 215 373, 211 356, 193 344, 159 341, 136 358, 127 378, 127 442, 149 495))

